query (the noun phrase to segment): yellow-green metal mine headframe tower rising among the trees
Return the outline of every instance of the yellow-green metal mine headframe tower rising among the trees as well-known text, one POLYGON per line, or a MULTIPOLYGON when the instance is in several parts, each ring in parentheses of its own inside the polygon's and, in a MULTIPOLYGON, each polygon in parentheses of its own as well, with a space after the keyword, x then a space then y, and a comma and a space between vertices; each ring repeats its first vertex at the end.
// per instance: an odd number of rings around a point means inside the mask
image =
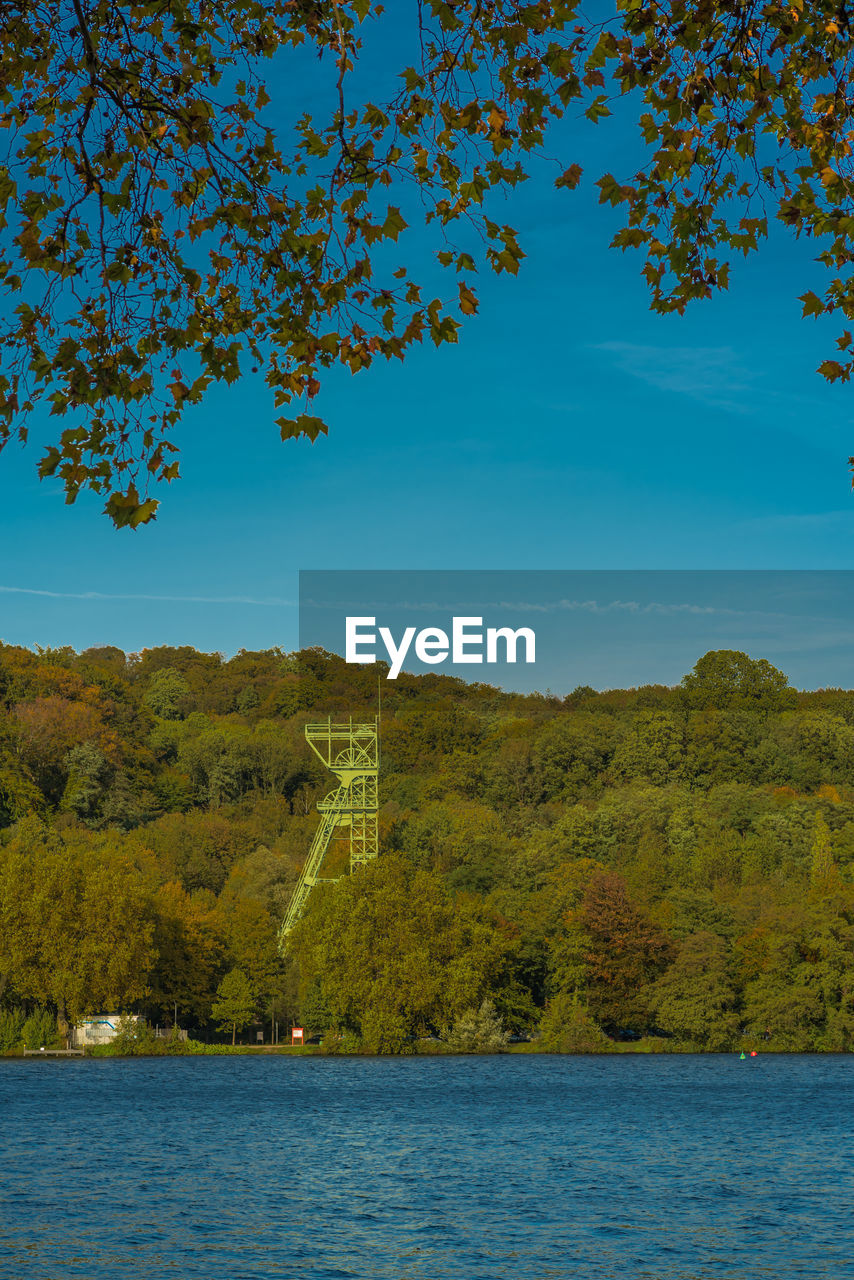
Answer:
POLYGON ((287 946, 288 933, 302 915, 315 884, 332 883, 338 876, 321 876, 323 860, 333 840, 350 840, 350 870, 376 858, 379 723, 306 724, 306 741, 339 786, 318 801, 320 826, 315 831, 306 864, 293 891, 279 932, 279 947, 287 946))

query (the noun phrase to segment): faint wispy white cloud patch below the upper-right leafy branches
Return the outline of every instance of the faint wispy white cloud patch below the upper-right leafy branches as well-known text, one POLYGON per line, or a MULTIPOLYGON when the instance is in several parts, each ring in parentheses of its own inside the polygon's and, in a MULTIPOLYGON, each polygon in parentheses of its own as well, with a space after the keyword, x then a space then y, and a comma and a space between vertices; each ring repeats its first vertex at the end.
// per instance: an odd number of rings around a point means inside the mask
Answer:
POLYGON ((615 357, 617 369, 662 392, 690 396, 716 408, 745 413, 744 393, 754 375, 732 347, 645 347, 632 342, 599 342, 593 351, 615 357))

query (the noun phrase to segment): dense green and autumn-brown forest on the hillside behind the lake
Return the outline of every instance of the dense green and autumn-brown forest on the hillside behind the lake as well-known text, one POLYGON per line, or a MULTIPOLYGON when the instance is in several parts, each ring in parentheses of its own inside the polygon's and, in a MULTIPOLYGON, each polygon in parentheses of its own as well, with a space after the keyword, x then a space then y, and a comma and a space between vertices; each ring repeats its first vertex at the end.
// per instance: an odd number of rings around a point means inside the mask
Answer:
POLYGON ((117 1009, 344 1051, 851 1047, 854 692, 729 650, 565 699, 384 682, 382 856, 283 957, 334 786, 303 726, 375 698, 320 650, 0 646, 0 1048, 117 1009))

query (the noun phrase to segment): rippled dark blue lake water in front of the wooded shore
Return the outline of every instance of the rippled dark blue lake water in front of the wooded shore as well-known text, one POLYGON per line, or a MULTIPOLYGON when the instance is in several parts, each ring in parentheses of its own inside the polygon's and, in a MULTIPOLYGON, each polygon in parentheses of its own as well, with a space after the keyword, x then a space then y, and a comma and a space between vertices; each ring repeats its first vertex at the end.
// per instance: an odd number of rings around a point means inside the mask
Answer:
POLYGON ((854 1276, 853 1057, 0 1061, 0 1276, 854 1276))

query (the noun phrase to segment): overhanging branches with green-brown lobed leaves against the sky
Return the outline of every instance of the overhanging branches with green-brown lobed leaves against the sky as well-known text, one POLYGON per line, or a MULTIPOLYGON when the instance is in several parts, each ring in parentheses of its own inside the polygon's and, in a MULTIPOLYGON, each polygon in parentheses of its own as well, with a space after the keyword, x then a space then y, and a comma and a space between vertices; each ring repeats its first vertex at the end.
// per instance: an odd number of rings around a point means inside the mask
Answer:
MULTIPOLYGON (((595 177, 656 310, 726 288, 773 214, 830 273, 804 315, 854 311, 851 27, 836 0, 0 13, 0 447, 27 439, 36 408, 68 421, 40 474, 69 502, 104 494, 117 525, 154 517, 152 488, 178 476, 170 429, 216 383, 262 367, 283 439, 315 439, 325 370, 455 342, 478 269, 515 274, 524 257, 490 192, 529 177, 567 113, 597 124, 625 99, 639 127, 635 173, 595 177), (360 70, 376 41, 399 74, 374 100, 360 70), (288 83, 318 86, 314 110, 288 83), (393 248, 425 219, 448 297, 393 248)), ((579 184, 571 155, 553 180, 579 184)), ((848 330, 837 348, 821 372, 848 380, 848 330)))

